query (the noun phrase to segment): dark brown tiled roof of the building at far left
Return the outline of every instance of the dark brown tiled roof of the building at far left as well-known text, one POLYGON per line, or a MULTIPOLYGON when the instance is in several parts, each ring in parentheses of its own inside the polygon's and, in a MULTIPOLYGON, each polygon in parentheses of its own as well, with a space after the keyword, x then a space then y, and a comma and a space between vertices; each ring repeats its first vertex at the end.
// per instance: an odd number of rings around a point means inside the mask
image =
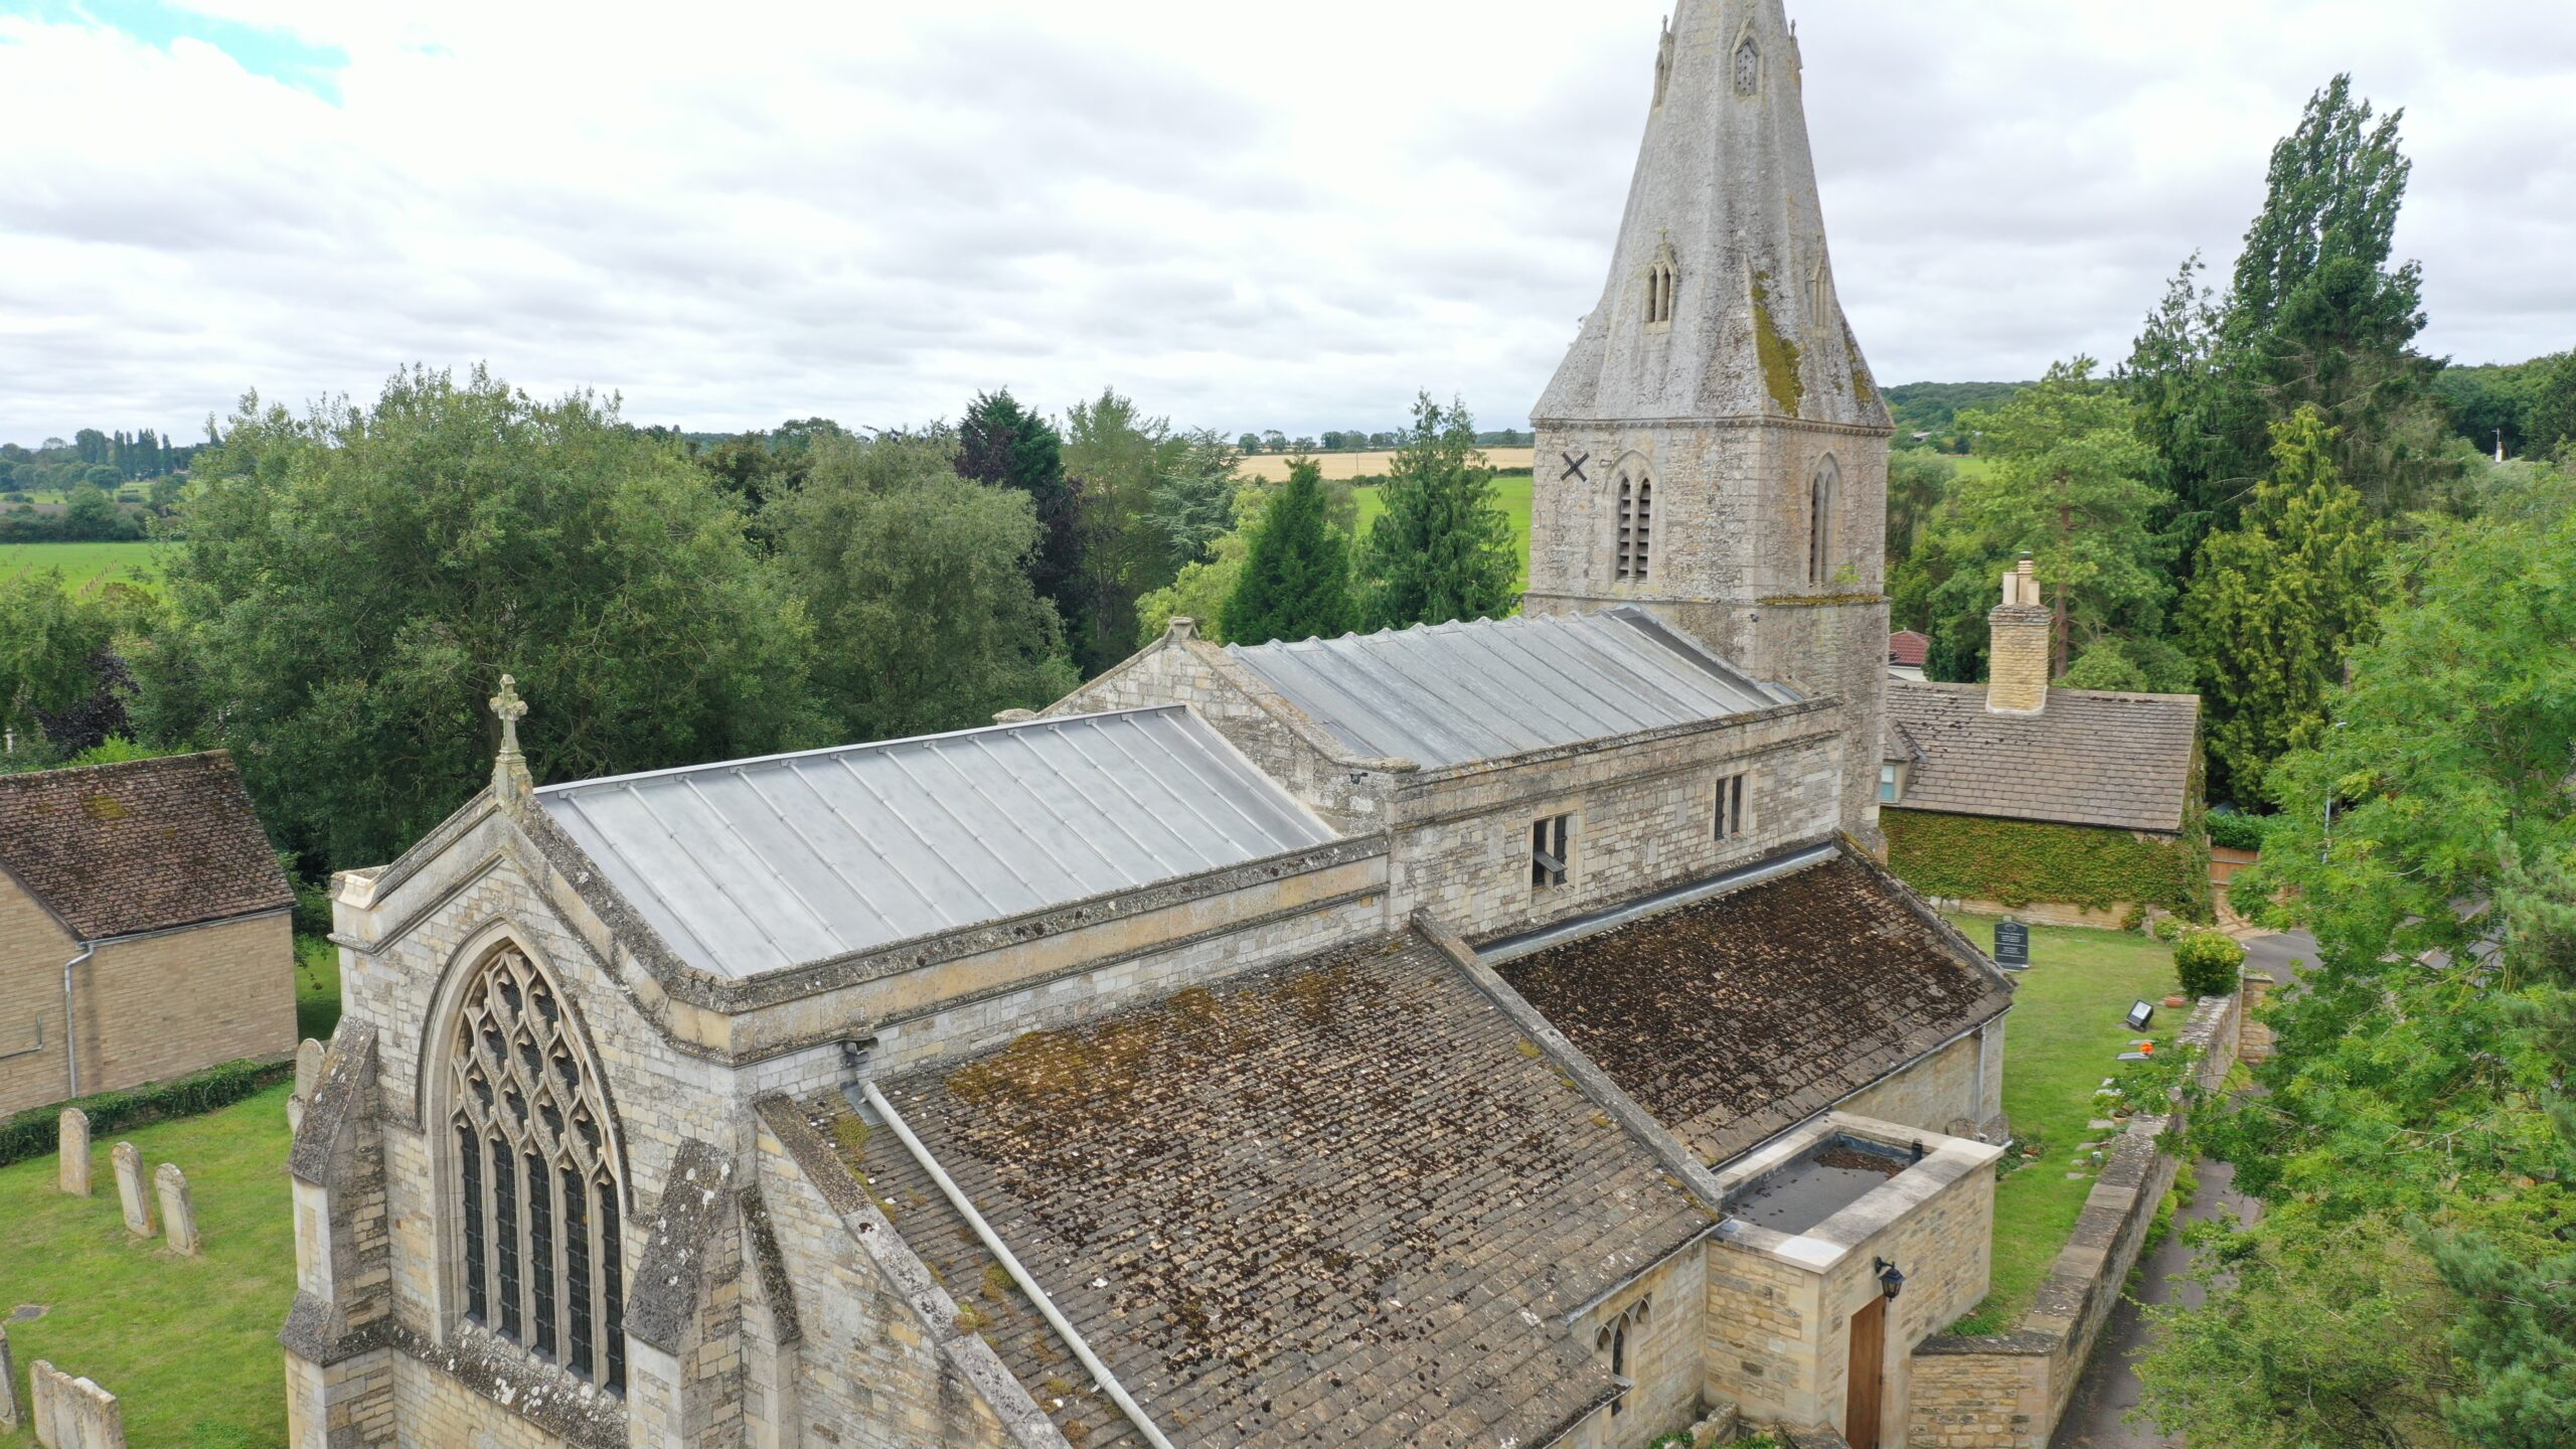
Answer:
POLYGON ((296 902, 224 750, 0 776, 0 869, 82 941, 296 902))

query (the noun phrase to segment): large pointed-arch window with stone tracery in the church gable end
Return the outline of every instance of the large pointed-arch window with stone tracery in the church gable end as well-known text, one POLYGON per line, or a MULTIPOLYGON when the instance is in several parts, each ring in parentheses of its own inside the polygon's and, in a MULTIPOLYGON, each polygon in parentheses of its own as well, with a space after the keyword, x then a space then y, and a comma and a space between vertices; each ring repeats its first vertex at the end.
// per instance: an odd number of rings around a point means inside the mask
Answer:
POLYGON ((626 1266, 608 1106, 569 1006, 502 946, 448 1047, 466 1318, 611 1392, 626 1387, 626 1266))

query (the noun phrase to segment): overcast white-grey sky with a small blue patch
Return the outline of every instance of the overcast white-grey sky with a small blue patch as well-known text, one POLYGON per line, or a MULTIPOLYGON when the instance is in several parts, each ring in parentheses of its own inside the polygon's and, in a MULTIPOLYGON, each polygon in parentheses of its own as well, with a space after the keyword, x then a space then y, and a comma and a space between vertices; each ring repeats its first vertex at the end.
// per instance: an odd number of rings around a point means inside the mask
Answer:
MULTIPOLYGON (((1489 428, 1602 286, 1667 0, 0 0, 0 438, 410 361, 685 428, 1103 384, 1489 428)), ((2336 70, 2406 108, 2427 348, 2576 345, 2566 0, 1790 3, 1883 379, 2125 356, 2336 70)))

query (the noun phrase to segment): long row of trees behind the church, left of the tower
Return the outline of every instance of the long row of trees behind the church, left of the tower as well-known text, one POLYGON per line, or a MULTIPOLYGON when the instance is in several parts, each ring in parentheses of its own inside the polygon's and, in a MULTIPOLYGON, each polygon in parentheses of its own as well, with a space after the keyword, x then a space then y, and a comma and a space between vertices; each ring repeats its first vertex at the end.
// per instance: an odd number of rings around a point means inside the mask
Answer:
POLYGON ((1311 459, 1247 480, 1118 392, 714 443, 482 369, 402 371, 368 407, 252 394, 196 451, 157 598, 0 583, 0 722, 10 768, 224 745, 319 874, 479 789, 502 670, 538 779, 580 779, 1043 706, 1229 559, 1244 601, 1203 606, 1226 637, 1502 614, 1517 552, 1471 438, 1425 397, 1358 536, 1311 459))

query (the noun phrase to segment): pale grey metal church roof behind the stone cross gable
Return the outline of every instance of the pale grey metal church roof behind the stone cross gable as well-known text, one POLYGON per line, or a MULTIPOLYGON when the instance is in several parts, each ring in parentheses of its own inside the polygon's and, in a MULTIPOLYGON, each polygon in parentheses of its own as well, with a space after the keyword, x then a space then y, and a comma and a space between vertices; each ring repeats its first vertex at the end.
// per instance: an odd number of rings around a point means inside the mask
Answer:
POLYGON ((544 786, 685 962, 750 977, 1334 833, 1182 706, 544 786))

